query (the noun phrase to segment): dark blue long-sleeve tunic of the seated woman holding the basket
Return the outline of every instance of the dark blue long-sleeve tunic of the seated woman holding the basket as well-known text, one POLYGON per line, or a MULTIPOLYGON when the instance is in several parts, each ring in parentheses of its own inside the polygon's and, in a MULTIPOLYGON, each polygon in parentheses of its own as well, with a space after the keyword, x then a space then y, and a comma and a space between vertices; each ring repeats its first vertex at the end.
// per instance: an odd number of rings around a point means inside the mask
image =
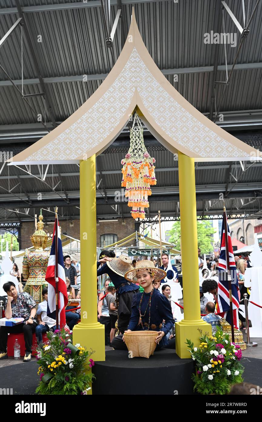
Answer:
MULTIPOLYGON (((142 324, 139 322, 139 303, 142 297, 142 293, 135 293, 132 299, 131 305, 131 318, 128 325, 128 330, 131 331, 140 331, 143 330, 142 324)), ((144 315, 146 307, 147 311, 144 317, 142 317, 142 322, 144 329, 148 329, 149 324, 149 305, 147 303, 150 298, 150 293, 144 293, 142 303, 141 303, 141 314, 144 315)), ((172 315, 172 310, 168 299, 161 295, 159 290, 154 289, 151 298, 151 307, 150 307, 150 327, 149 330, 152 331, 163 331, 165 336, 159 343, 160 347, 166 346, 168 339, 166 338, 167 333, 171 330, 174 325, 174 318, 172 315), (165 325, 163 327, 163 319, 165 320, 165 325)))

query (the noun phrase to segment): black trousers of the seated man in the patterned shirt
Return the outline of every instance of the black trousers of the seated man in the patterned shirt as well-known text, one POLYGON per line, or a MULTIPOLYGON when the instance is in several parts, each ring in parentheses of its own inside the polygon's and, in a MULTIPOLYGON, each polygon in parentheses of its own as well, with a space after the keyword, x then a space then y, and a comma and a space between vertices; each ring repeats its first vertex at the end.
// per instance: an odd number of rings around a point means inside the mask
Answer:
MULTIPOLYGON (((6 352, 8 333, 10 334, 24 334, 25 352, 32 353, 32 340, 33 333, 35 333, 35 327, 37 323, 33 321, 32 324, 17 324, 13 327, 1 327, 0 328, 0 351, 6 352)), ((22 352, 22 351, 21 351, 22 352)))

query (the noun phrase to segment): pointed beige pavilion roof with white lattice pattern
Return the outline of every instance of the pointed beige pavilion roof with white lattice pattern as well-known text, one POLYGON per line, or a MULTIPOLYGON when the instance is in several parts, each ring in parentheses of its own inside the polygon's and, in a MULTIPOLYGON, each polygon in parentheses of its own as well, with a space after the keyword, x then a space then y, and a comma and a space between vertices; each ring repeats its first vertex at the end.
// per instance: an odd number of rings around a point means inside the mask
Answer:
POLYGON ((195 161, 257 157, 254 148, 203 116, 167 81, 143 43, 133 9, 123 50, 96 92, 10 161, 15 165, 65 164, 98 155, 122 132, 136 106, 152 135, 173 153, 181 151, 195 161))

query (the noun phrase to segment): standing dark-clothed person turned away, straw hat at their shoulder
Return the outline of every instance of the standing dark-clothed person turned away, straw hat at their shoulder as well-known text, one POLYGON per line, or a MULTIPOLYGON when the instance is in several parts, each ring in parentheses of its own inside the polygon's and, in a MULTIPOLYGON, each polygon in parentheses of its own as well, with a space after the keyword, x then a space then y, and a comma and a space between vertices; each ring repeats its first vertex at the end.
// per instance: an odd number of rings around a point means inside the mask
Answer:
POLYGON ((131 317, 131 303, 134 293, 139 292, 136 284, 127 281, 124 276, 127 271, 134 269, 131 259, 126 255, 115 258, 114 252, 102 251, 97 262, 97 276, 108 274, 118 295, 118 329, 120 333, 127 330, 131 317), (100 264, 104 264, 98 269, 100 264))

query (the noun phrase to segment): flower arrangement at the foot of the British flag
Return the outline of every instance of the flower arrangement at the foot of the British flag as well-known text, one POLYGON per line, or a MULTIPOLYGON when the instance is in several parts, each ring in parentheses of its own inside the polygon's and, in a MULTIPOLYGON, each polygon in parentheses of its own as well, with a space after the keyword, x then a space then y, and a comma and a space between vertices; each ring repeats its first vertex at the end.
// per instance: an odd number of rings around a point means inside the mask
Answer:
POLYGON ((196 374, 192 375, 194 390, 201 394, 227 394, 231 385, 243 381, 240 346, 231 343, 229 335, 223 333, 219 326, 214 337, 199 331, 201 337, 198 347, 194 347, 188 339, 186 343, 196 363, 196 374))

